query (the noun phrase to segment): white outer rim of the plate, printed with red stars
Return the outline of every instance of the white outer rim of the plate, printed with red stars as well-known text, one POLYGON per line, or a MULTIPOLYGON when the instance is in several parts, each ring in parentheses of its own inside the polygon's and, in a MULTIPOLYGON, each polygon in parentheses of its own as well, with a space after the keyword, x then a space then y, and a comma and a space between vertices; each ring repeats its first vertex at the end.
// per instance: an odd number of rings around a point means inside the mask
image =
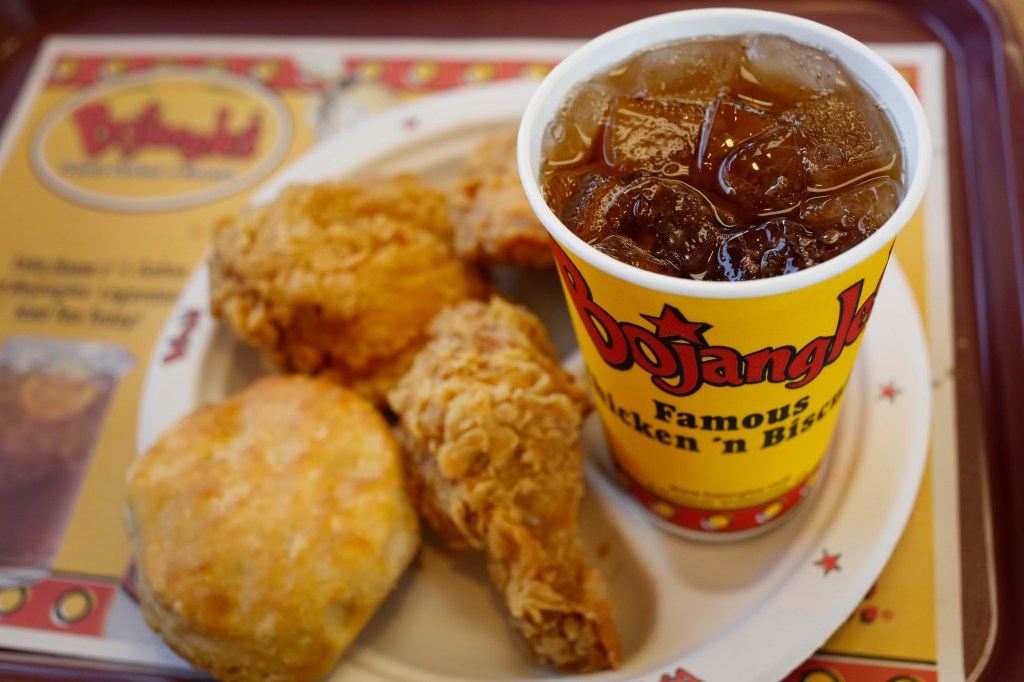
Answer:
MULTIPOLYGON (((347 172, 357 169, 372 162, 374 158, 387 156, 402 146, 411 143, 427 140, 438 135, 451 133, 467 124, 482 125, 488 122, 501 120, 514 120, 516 111, 525 108, 529 94, 537 87, 534 81, 505 81, 486 85, 474 85, 464 88, 457 88, 443 93, 430 95, 415 100, 408 104, 399 105, 373 119, 360 123, 355 128, 343 131, 321 144, 314 146, 305 155, 294 161, 288 167, 275 173, 256 190, 251 199, 251 203, 260 203, 271 198, 276 191, 288 182, 304 179, 305 177, 316 176, 318 179, 326 179, 321 173, 308 174, 311 167, 324 167, 327 160, 331 167, 330 176, 342 176, 347 172), (452 115, 452 112, 456 112, 452 115), (436 116, 437 114, 444 116, 436 116), (411 116, 419 118, 420 123, 415 127, 409 127, 406 122, 411 116), (396 131, 399 134, 394 134, 396 131), (383 140, 383 141, 382 141, 383 140), (344 155, 339 155, 338 151, 344 150, 344 155), (361 155, 361 156, 360 156, 361 155), (340 161, 339 161, 340 160, 340 161), (333 165, 331 165, 333 164, 333 165)), ((310 180, 313 181, 313 180, 310 180)), ((212 317, 209 312, 209 269, 206 256, 196 267, 178 301, 174 304, 171 313, 168 315, 158 340, 154 346, 148 367, 146 368, 143 382, 142 395, 140 400, 138 432, 136 437, 137 454, 140 455, 159 437, 160 433, 180 417, 191 412, 198 406, 197 397, 201 382, 201 370, 204 364, 205 350, 213 338, 217 328, 222 325, 212 317), (198 313, 198 317, 196 316, 198 313), (189 322, 191 321, 191 322, 189 322), (203 349, 203 353, 187 350, 185 355, 177 361, 167 358, 175 352, 175 342, 180 343, 184 337, 185 342, 193 349, 203 349), (173 388, 174 390, 170 390, 173 388)), ((900 478, 900 486, 897 491, 897 498, 893 501, 893 508, 886 517, 886 522, 880 529, 881 535, 877 535, 872 542, 873 552, 857 562, 859 570, 853 573, 854 578, 845 579, 852 583, 843 589, 844 598, 833 609, 820 619, 820 623, 813 628, 804 630, 802 639, 799 639, 799 646, 792 638, 787 638, 788 644, 781 647, 780 651, 775 642, 772 646, 765 647, 772 649, 774 655, 772 659, 763 657, 743 655, 735 656, 735 644, 730 647, 727 641, 723 640, 735 638, 737 633, 742 633, 746 640, 754 641, 753 637, 746 637, 746 631, 756 629, 763 625, 760 619, 743 619, 733 628, 723 631, 710 640, 706 640, 694 650, 682 652, 675 657, 669 658, 669 663, 659 664, 657 667, 642 673, 629 673, 623 676, 621 673, 604 673, 597 676, 590 676, 593 679, 657 679, 658 675, 675 673, 676 668, 682 668, 692 675, 697 675, 700 679, 720 680, 737 679, 734 668, 721 668, 723 653, 730 652, 733 655, 724 656, 730 663, 740 663, 745 665, 748 671, 753 669, 750 675, 743 673, 738 679, 759 681, 777 680, 785 674, 804 663, 808 656, 813 655, 820 646, 831 636, 831 634, 845 622, 849 613, 863 598, 870 585, 882 572, 892 551, 895 549, 899 538, 902 537, 906 521, 909 518, 913 505, 918 498, 918 491, 923 479, 925 463, 927 460, 928 443, 930 439, 931 422, 931 371, 927 363, 927 343, 925 341, 923 325, 920 311, 913 301, 909 285, 900 267, 895 255, 891 257, 886 276, 882 283, 882 291, 878 303, 872 311, 876 322, 868 325, 862 347, 857 359, 857 367, 867 365, 867 375, 865 380, 871 378, 872 365, 877 365, 887 353, 898 352, 902 363, 900 369, 908 377, 907 383, 903 386, 906 397, 901 404, 908 404, 909 412, 902 414, 900 421, 901 429, 895 433, 903 433, 906 438, 906 453, 903 460, 903 477, 900 478), (883 319, 880 321, 879 318, 883 319), (882 340, 878 337, 888 331, 882 324, 889 321, 892 324, 896 321, 901 325, 899 334, 887 337, 886 348, 882 340), (909 416, 909 421, 906 417, 909 416), (907 429, 907 424, 911 427, 907 429), (856 580, 855 580, 856 579, 856 580), (716 660, 719 663, 716 664, 716 660), (751 660, 758 660, 752 666, 751 660)), ((854 372, 858 369, 855 367, 854 372)), ((861 399, 868 399, 867 395, 861 399)), ((846 402, 844 414, 848 412, 846 402)), ((864 423, 867 430, 873 432, 882 428, 881 422, 873 422, 865 417, 864 423)), ((889 433, 888 435, 892 435, 889 433)), ((866 437, 866 436, 865 436, 866 437)), ((861 438, 864 440, 864 438, 861 438)), ((887 460, 891 463, 893 460, 887 460)), ((857 480, 855 480, 857 482, 857 480)), ((836 483, 833 482, 833 485, 836 483)), ((859 483, 858 483, 859 484, 859 483)), ((822 486, 824 487, 824 486, 822 486)), ((858 491, 860 487, 857 488, 858 491)), ((854 497, 848 493, 849 497, 854 497)), ((617 503, 616 503, 617 504, 617 503)), ((843 514, 843 509, 849 507, 849 502, 840 505, 836 518, 831 521, 831 527, 836 527, 838 520, 843 520, 845 524, 850 521, 843 514)), ((809 513, 813 510, 809 510, 809 513)), ((848 512, 849 513, 849 512, 848 512)), ((855 524, 856 525, 856 524, 855 524)), ((845 526, 840 526, 845 527, 845 526)), ((858 530, 855 529, 854 532, 858 530)), ((658 532, 662 532, 658 530, 658 532)), ((810 562, 801 568, 803 573, 809 573, 813 569, 810 562)), ((851 573, 847 573, 849 576, 851 573)), ((826 576, 827 578, 827 576, 826 576)), ((778 599, 778 594, 788 591, 784 588, 791 587, 795 579, 791 577, 782 586, 773 593, 772 597, 764 600, 765 603, 772 603, 778 599)), ((818 585, 823 585, 825 581, 819 581, 818 585)), ((835 586, 833 586, 835 587, 835 586)), ((829 588, 833 589, 833 588, 829 588)), ((758 612, 764 611, 759 608, 758 612)), ((774 622, 777 629, 777 621, 774 622)), ((769 631, 770 632, 770 631, 769 631)), ((356 662, 353 662, 356 663, 356 662)), ((356 664, 357 665, 357 664, 356 664)), ((335 670, 334 675, 340 676, 344 667, 344 658, 335 670)), ((409 670, 404 668, 404 670, 409 670)), ((349 672, 349 671, 345 671, 349 672)), ((374 673, 365 667, 360 667, 360 673, 373 676, 374 673)), ((426 673, 426 671, 418 671, 426 673)), ((438 676, 429 674, 430 679, 436 680, 463 680, 465 678, 438 676)), ((331 678, 333 679, 333 678, 331 678)), ((347 678, 346 678, 347 679, 347 678)), ((360 677, 359 679, 365 679, 360 677)), ((390 677, 379 677, 371 679, 392 679, 390 677)), ((560 676, 548 678, 530 679, 562 679, 560 676)), ((566 678, 567 679, 567 678, 566 678)))

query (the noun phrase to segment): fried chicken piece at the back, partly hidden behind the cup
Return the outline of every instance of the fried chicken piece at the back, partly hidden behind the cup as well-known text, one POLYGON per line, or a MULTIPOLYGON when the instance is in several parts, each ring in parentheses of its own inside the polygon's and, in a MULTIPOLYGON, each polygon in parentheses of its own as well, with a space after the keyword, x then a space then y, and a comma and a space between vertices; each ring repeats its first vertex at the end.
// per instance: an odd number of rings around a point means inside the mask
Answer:
POLYGON ((488 264, 547 267, 551 242, 519 180, 516 130, 484 138, 467 157, 452 193, 455 246, 488 264))

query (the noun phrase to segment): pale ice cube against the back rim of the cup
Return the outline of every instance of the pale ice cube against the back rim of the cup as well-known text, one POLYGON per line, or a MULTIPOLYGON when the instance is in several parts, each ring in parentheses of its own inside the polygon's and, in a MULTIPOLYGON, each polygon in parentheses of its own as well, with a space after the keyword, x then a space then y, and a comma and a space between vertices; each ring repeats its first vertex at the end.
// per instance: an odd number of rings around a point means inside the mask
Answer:
POLYGON ((770 89, 775 103, 829 91, 840 81, 839 65, 816 47, 771 34, 751 35, 743 42, 742 78, 770 89))

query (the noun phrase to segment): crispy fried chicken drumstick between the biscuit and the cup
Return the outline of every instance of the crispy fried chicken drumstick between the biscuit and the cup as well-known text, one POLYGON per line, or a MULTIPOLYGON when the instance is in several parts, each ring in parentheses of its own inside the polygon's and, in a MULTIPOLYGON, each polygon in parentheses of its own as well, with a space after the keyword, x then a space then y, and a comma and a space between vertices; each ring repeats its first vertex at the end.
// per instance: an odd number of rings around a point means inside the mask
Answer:
POLYGON ((444 310, 429 331, 388 396, 422 516, 453 547, 486 551, 535 658, 617 667, 607 586, 578 537, 585 394, 541 322, 500 298, 444 310))

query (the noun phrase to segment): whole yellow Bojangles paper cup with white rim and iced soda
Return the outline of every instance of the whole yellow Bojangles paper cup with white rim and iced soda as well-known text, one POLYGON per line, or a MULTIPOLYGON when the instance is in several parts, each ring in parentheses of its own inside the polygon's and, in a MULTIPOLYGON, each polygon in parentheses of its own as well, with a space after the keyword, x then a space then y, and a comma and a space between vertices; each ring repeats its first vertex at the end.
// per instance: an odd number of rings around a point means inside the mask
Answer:
POLYGON ((517 155, 632 497, 691 538, 739 539, 792 517, 821 469, 894 240, 925 193, 931 142, 906 81, 813 22, 673 12, 556 67, 525 110, 517 155), (705 48, 700 69, 739 49, 752 61, 733 62, 736 78, 769 94, 790 82, 774 100, 736 95, 713 72, 686 85, 683 53, 705 48), (637 92, 609 93, 629 78, 637 92), (862 101, 839 100, 847 81, 862 101), (830 146, 844 119, 855 122, 838 133, 848 146, 830 146), (891 152, 888 166, 864 172, 865 147, 891 152))

